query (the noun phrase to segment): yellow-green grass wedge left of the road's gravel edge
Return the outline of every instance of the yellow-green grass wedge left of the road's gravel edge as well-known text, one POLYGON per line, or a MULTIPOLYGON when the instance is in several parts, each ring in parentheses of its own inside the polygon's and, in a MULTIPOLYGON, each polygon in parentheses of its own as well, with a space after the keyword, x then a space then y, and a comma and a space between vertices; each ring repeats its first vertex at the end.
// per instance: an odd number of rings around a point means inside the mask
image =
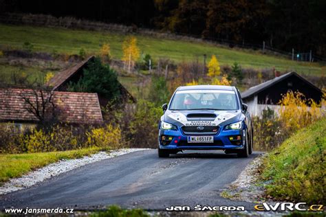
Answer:
POLYGON ((99 148, 83 148, 60 152, 39 152, 0 155, 0 185, 47 164, 61 159, 75 159, 98 152, 99 148))

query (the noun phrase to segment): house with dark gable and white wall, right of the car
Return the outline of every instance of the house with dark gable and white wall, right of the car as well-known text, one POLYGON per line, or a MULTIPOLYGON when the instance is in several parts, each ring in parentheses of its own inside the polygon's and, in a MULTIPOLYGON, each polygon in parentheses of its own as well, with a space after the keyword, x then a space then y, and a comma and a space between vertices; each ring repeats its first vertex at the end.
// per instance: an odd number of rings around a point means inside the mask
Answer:
POLYGON ((305 98, 315 102, 320 102, 323 97, 323 91, 294 71, 250 87, 241 93, 241 97, 243 102, 248 104, 250 114, 260 116, 268 107, 277 111, 279 109, 277 104, 287 91, 299 91, 305 98))

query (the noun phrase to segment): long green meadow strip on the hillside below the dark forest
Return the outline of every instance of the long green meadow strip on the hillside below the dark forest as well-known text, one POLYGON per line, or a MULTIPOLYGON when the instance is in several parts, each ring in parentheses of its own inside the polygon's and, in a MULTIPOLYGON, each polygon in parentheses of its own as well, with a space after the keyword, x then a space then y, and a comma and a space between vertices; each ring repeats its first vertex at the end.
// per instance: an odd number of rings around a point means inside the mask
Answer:
MULTIPOLYGON (((98 54, 100 45, 107 42, 113 58, 122 57, 122 41, 125 34, 113 32, 91 32, 85 30, 67 30, 63 28, 0 25, 0 46, 21 49, 24 42, 34 45, 34 51, 78 54, 84 48, 89 54, 98 54)), ((320 76, 325 68, 318 63, 296 62, 277 56, 263 55, 246 49, 229 49, 208 43, 192 43, 169 39, 136 36, 141 52, 151 54, 154 59, 164 57, 180 62, 182 60, 202 61, 203 54, 208 57, 217 55, 221 65, 238 62, 243 67, 258 69, 276 67, 279 71, 294 70, 298 73, 320 76)))

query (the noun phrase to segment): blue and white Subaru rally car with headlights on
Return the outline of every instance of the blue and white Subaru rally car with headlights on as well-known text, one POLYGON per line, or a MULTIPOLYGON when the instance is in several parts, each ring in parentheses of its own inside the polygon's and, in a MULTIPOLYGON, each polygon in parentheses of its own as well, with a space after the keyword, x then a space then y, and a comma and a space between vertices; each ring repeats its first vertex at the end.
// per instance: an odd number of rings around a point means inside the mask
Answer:
POLYGON ((158 156, 182 150, 224 150, 248 157, 253 128, 237 88, 220 85, 178 87, 162 106, 158 156))

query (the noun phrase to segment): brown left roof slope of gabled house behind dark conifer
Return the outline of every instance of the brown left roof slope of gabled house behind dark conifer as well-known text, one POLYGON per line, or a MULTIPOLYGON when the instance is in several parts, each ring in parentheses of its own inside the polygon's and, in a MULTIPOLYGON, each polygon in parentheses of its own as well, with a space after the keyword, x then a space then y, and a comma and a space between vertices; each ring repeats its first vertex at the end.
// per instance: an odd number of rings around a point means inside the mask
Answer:
POLYGON ((53 87, 53 89, 56 90, 62 84, 69 81, 69 78, 72 78, 72 76, 74 76, 74 74, 77 73, 80 69, 85 67, 85 65, 87 65, 87 62, 89 60, 91 60, 92 58, 94 58, 94 56, 89 56, 89 58, 87 58, 83 62, 79 62, 74 67, 71 67, 69 69, 65 69, 63 71, 59 71, 58 73, 56 73, 56 75, 53 78, 51 78, 47 82, 47 86, 53 87))

